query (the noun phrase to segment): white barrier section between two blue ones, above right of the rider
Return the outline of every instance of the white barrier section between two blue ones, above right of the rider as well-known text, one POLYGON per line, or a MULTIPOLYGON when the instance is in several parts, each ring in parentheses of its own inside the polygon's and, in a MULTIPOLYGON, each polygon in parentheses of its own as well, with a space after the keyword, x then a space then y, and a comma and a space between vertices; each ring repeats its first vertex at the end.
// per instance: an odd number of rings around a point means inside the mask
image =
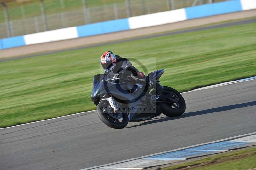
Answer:
POLYGON ((185 9, 158 12, 128 18, 130 29, 163 25, 187 19, 185 9))

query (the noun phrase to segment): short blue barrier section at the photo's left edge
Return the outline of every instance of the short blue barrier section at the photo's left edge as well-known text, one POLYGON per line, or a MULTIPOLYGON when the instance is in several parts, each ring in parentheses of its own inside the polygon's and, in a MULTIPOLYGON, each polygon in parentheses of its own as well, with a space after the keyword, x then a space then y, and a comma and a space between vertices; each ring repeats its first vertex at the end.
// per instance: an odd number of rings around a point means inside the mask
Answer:
POLYGON ((17 37, 11 37, 11 38, 5 38, 1 40, 2 42, 2 48, 12 48, 12 47, 19 47, 26 45, 24 36, 17 36, 17 37))

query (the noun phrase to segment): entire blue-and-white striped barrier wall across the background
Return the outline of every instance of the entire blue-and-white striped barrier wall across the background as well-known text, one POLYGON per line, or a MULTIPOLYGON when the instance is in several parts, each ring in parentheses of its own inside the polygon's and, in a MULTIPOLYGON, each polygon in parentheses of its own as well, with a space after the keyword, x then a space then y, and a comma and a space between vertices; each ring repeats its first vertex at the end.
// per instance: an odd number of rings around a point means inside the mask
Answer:
POLYGON ((0 40, 0 50, 30 44, 67 40, 92 35, 150 27, 213 15, 256 9, 256 0, 230 0, 148 15, 98 22, 77 27, 28 34, 0 40))

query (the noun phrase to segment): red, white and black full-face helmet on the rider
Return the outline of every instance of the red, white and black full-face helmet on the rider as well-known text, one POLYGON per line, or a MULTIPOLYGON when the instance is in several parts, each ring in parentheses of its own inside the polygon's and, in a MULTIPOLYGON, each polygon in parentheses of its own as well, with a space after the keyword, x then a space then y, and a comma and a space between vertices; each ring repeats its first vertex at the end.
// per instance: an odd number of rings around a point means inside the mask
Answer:
POLYGON ((116 56, 111 51, 105 52, 100 58, 101 66, 106 72, 112 71, 116 66, 116 62, 116 56))

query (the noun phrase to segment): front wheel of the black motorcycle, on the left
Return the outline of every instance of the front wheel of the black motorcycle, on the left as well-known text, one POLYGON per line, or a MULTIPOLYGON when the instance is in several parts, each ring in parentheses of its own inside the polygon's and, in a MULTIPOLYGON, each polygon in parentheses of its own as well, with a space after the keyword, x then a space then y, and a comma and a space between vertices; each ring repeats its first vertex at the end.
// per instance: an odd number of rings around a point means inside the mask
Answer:
POLYGON ((114 112, 107 100, 102 100, 97 106, 100 120, 110 128, 122 129, 129 122, 128 114, 120 111, 114 112))

